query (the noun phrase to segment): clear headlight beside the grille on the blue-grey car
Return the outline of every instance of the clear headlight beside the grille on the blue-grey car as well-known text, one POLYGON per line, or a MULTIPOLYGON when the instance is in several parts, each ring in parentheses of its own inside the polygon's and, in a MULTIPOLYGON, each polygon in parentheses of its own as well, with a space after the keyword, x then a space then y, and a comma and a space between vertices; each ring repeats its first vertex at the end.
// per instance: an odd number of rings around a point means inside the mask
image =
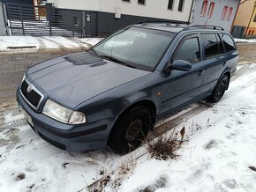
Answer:
POLYGON ((71 109, 63 107, 52 100, 46 101, 42 109, 42 114, 46 114, 59 122, 67 124, 80 124, 87 122, 85 114, 78 111, 72 111, 71 109))

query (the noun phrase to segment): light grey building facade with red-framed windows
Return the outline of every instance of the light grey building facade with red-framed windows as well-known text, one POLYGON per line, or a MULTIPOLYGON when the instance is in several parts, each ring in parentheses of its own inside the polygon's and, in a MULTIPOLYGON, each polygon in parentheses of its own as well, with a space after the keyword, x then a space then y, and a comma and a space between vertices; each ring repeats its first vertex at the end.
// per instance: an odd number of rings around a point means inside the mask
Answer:
POLYGON ((195 0, 191 22, 194 25, 222 26, 230 31, 240 0, 195 0))

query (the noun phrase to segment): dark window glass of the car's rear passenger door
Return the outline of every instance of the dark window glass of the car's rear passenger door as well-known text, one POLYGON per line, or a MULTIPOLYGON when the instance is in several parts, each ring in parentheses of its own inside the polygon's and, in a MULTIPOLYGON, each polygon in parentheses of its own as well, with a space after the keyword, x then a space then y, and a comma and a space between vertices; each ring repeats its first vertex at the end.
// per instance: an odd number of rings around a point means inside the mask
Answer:
POLYGON ((202 33, 201 36, 204 43, 206 58, 221 54, 219 48, 220 40, 217 41, 215 33, 202 33))

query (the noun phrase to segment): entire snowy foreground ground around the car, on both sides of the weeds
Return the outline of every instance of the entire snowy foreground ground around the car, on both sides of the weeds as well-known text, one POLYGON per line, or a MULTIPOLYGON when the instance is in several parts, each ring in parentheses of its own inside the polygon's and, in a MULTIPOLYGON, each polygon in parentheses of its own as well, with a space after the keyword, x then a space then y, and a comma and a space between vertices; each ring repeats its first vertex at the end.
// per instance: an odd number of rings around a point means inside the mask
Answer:
POLYGON ((240 67, 219 103, 177 125, 177 130, 185 127, 190 139, 179 151, 180 159, 167 161, 150 159, 145 146, 124 157, 109 150, 59 150, 34 134, 14 103, 1 104, 0 191, 87 191, 97 179, 137 159, 134 172, 118 191, 254 192, 255 94, 256 64, 240 67))

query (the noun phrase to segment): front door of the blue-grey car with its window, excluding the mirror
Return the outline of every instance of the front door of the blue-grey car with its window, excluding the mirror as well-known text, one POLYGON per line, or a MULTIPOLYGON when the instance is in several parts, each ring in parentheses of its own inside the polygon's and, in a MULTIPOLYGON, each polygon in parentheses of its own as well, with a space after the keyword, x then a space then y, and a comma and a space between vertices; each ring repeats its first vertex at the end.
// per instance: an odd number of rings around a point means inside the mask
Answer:
POLYGON ((204 76, 204 62, 200 51, 200 40, 197 34, 185 36, 171 56, 171 62, 184 60, 192 63, 192 70, 171 70, 163 72, 163 94, 161 114, 166 114, 177 107, 196 100, 201 94, 200 86, 204 76))

